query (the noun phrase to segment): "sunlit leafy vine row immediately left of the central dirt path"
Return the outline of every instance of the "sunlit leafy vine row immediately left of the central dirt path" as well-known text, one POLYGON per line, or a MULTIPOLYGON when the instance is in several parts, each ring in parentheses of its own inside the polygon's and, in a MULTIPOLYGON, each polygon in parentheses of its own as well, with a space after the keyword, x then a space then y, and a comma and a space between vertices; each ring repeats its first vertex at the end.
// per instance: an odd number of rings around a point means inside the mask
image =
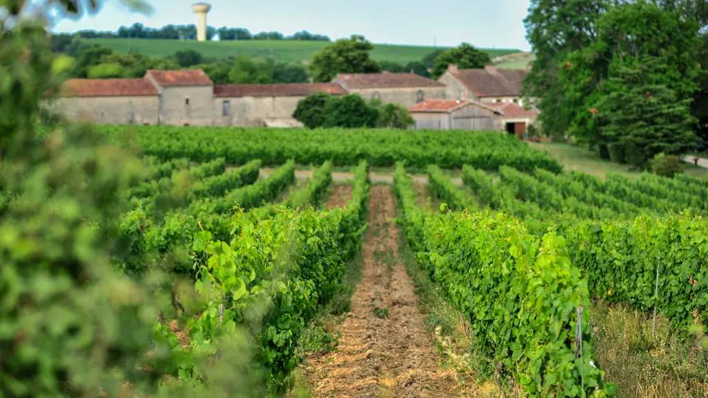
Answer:
MULTIPOLYGON (((362 164, 346 207, 318 211, 279 207, 267 220, 253 223, 239 210, 228 244, 210 232, 195 234, 193 249, 207 254, 195 288, 209 305, 190 321, 191 355, 216 353, 214 341, 236 325, 253 334, 258 363, 268 368, 268 389, 287 390, 298 363, 295 347, 318 303, 340 288, 346 262, 360 247, 368 200, 368 169, 362 164)), ((169 341, 169 333, 162 331, 169 341)), ((185 364, 181 377, 202 380, 200 368, 185 364)))

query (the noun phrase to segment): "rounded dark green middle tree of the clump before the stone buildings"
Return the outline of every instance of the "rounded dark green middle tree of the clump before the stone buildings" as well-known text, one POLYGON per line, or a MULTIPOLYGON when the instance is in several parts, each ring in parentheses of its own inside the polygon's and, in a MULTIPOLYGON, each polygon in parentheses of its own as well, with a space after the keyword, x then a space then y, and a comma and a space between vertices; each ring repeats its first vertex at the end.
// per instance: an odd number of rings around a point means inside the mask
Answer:
POLYGON ((379 110, 369 106, 359 94, 347 94, 327 101, 322 127, 376 127, 379 110))

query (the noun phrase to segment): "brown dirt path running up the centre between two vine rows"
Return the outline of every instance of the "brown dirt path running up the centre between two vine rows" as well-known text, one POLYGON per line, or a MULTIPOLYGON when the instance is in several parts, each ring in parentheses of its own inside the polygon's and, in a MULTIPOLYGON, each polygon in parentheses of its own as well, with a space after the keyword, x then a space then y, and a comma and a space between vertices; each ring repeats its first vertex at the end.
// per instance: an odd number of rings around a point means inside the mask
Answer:
POLYGON ((399 259, 390 186, 372 186, 362 279, 339 326, 338 349, 308 365, 319 398, 459 397, 457 377, 440 365, 413 282, 399 259))

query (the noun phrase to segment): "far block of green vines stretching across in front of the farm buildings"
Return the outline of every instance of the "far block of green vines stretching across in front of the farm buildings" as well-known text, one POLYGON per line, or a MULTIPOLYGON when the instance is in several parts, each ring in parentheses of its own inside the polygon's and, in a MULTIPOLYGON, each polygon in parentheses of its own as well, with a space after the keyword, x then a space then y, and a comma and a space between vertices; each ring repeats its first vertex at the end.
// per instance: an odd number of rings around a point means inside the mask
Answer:
MULTIPOLYGON (((96 126, 115 142, 125 140, 121 127, 96 126)), ((142 148, 159 159, 186 157, 210 161, 223 157, 229 164, 261 159, 263 164, 322 164, 356 166, 366 160, 371 166, 393 166, 406 161, 425 170, 428 164, 454 169, 470 164, 477 169, 497 170, 506 165, 532 171, 539 167, 554 173, 563 168, 556 159, 532 149, 515 137, 496 132, 420 131, 401 135, 397 129, 234 129, 232 127, 137 126, 135 140, 127 144, 142 148)))

